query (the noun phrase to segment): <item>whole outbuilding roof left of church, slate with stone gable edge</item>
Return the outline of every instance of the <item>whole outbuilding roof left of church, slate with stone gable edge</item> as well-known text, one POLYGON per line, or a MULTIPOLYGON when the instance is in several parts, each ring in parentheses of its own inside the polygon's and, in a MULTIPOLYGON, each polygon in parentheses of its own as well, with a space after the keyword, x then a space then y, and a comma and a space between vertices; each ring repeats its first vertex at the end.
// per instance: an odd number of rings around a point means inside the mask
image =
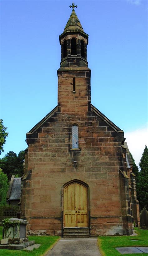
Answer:
POLYGON ((15 178, 12 175, 9 189, 7 192, 8 200, 19 200, 21 198, 21 178, 15 178))

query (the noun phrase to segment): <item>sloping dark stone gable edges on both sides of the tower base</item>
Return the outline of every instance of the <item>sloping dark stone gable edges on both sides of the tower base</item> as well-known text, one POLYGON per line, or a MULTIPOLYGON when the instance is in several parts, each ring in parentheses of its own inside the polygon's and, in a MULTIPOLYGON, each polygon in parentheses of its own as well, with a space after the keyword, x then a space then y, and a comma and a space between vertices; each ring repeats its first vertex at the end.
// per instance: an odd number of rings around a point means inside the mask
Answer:
MULTIPOLYGON (((104 122, 106 122, 111 128, 113 128, 117 133, 123 133, 123 130, 121 130, 118 126, 116 126, 114 123, 111 122, 105 115, 103 115, 95 106, 91 104, 91 110, 94 112, 97 116, 99 116, 104 122)), ((51 112, 49 112, 45 117, 42 118, 40 122, 38 122, 29 132, 26 133, 26 135, 31 135, 37 131, 50 117, 52 117, 57 112, 57 106, 52 109, 51 112)))

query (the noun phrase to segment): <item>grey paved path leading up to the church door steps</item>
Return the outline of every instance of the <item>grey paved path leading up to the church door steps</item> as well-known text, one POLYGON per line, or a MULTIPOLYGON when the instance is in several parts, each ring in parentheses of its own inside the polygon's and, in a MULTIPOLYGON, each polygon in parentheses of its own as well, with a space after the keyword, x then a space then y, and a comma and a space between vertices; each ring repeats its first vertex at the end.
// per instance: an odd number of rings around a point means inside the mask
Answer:
POLYGON ((101 256, 97 238, 62 238, 46 256, 101 256))

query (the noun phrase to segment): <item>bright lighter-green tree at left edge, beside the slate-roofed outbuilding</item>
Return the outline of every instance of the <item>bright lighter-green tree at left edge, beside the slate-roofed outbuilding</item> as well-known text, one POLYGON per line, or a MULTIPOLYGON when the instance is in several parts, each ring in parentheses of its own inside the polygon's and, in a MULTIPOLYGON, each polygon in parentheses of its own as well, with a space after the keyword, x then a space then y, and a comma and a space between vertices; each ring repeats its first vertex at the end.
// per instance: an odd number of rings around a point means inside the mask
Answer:
POLYGON ((6 204, 6 195, 8 190, 8 178, 7 175, 0 169, 0 204, 6 204))

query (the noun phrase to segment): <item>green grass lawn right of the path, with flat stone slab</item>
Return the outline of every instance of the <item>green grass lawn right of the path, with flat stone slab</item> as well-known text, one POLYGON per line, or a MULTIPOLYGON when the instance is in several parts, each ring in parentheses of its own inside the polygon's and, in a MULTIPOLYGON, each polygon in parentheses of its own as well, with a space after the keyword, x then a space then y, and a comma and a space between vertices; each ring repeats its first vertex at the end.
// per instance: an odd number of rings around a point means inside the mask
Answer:
MULTIPOLYGON (((142 230, 135 228, 137 236, 119 236, 119 237, 98 237, 98 244, 102 256, 119 256, 119 253, 115 247, 148 247, 148 230, 142 230), (132 241, 136 240, 136 241, 132 241)), ((133 253, 123 254, 126 256, 146 256, 146 253, 133 253)))

